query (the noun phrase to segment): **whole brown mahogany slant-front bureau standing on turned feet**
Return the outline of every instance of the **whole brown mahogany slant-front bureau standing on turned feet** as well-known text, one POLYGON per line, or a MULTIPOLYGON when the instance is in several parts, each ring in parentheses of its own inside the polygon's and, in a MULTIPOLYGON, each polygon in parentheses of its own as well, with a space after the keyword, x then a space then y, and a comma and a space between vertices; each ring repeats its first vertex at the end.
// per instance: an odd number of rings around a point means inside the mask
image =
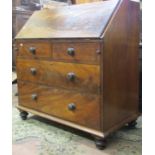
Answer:
POLYGON ((138 112, 139 3, 109 0, 36 11, 16 36, 20 116, 105 138, 138 112))

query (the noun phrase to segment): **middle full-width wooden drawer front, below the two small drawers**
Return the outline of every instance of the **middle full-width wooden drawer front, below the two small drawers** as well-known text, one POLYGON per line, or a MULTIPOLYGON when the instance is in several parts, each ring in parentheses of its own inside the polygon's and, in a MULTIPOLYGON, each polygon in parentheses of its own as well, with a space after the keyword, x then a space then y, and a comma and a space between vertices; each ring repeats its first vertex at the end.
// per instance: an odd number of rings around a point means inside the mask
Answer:
POLYGON ((17 76, 18 80, 71 90, 100 91, 98 65, 17 59, 17 76))

